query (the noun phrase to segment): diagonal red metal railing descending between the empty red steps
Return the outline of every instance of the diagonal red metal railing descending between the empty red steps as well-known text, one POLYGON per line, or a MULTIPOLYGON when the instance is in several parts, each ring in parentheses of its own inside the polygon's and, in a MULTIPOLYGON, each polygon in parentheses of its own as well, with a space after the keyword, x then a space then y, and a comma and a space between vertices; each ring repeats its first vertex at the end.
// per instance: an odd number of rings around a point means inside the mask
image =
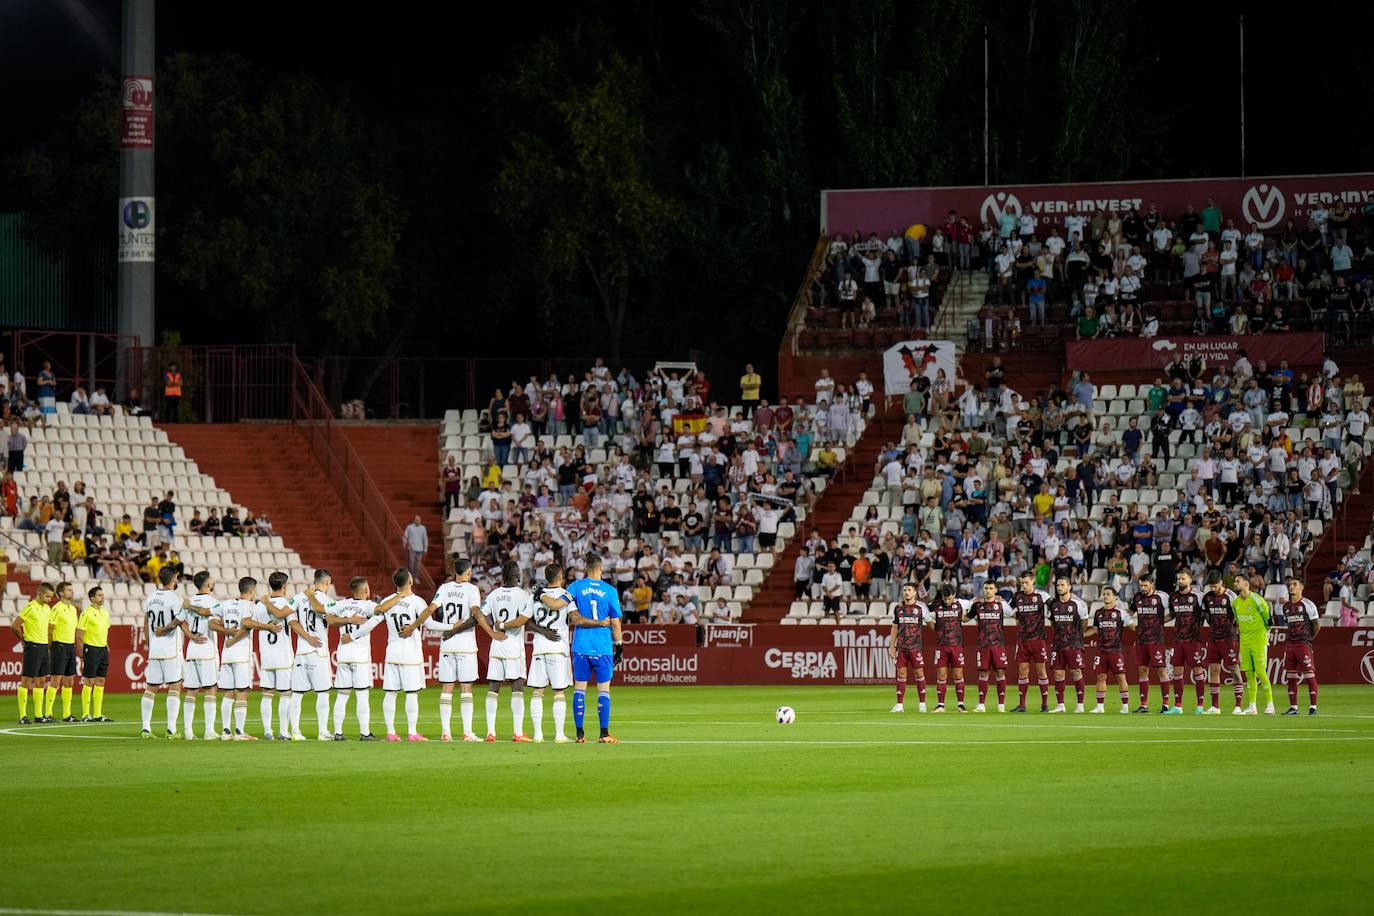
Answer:
MULTIPOLYGON (((291 368, 291 423, 300 430, 311 455, 324 471, 324 478, 338 493, 344 509, 353 519, 364 544, 375 552, 378 562, 387 569, 404 567, 407 563, 401 547, 404 537, 401 523, 396 520, 382 490, 335 420, 334 411, 330 409, 319 386, 300 360, 293 360, 291 368)), ((434 591, 434 578, 423 566, 415 585, 423 592, 434 591)))

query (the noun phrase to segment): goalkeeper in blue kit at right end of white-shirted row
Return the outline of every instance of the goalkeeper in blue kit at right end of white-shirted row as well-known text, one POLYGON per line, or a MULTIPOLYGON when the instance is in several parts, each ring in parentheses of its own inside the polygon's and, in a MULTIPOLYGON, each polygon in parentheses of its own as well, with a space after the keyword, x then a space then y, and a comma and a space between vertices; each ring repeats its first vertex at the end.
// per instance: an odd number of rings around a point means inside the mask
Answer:
POLYGON ((587 681, 596 678, 596 718, 600 744, 620 744, 610 733, 610 680, 621 659, 620 593, 603 582, 602 560, 587 556, 587 575, 567 586, 577 610, 567 615, 573 628, 573 725, 577 743, 587 743, 587 681))

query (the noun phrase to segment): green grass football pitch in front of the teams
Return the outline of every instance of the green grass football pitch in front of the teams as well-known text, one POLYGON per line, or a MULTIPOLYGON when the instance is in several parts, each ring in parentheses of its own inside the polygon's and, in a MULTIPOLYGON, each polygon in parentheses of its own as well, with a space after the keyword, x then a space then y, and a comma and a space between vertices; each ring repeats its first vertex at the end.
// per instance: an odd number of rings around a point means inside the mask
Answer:
MULTIPOLYGON (((1325 687, 1315 718, 890 703, 875 687, 622 688, 618 747, 223 744, 126 740, 137 698, 111 696, 115 725, 0 732, 0 912, 1367 905, 1374 689, 1325 687), (783 703, 794 725, 774 722, 783 703)), ((313 735, 309 700, 305 720, 313 735)))

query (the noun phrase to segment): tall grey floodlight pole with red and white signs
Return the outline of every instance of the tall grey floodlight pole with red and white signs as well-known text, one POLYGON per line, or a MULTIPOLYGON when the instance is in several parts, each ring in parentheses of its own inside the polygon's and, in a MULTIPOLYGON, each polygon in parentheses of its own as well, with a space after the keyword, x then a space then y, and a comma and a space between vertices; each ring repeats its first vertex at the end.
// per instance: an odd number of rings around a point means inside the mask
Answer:
MULTIPOLYGON (((132 368, 125 341, 153 346, 154 240, 157 207, 153 196, 153 69, 155 0, 124 0, 121 65, 120 201, 118 201, 118 397, 129 393, 132 368)), ((147 382, 144 380, 144 385, 147 382)), ((147 401, 150 391, 143 391, 147 401)))

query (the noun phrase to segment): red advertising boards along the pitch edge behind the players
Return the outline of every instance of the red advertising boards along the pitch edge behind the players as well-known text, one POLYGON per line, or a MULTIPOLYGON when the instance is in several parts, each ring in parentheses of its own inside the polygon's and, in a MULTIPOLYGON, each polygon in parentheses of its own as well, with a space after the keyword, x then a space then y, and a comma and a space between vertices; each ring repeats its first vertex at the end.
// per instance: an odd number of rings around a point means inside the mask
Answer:
MULTIPOLYGON (((1010 628, 1014 633, 1014 628, 1010 628)), ((621 684, 890 684, 886 626, 712 626, 698 640, 694 626, 627 626, 625 659, 616 673, 621 684), (698 644, 698 641, 701 644, 698 644)), ((486 670, 486 637, 481 644, 481 667, 486 670)), ((1131 641, 1131 636, 1127 636, 1131 641)), ((1275 633, 1270 650, 1270 680, 1283 677, 1282 634, 1275 633)), ((973 628, 965 643, 977 644, 973 628)), ((110 630, 109 689, 143 688, 147 641, 142 628, 110 630)), ((386 636, 372 633, 376 674, 385 658, 386 636)), ((1088 641, 1085 662, 1096 663, 1096 645, 1088 641)), ((926 652, 930 658, 930 652, 926 652)), ((976 665, 969 651, 969 666, 976 665)), ((426 637, 425 674, 433 681, 438 643, 426 637)), ((18 687, 21 654, 14 640, 0 643, 0 692, 18 687)), ((1316 670, 1323 684, 1374 684, 1374 628, 1326 628, 1316 637, 1316 670)), ((1134 676, 1135 667, 1131 666, 1134 676)), ((929 680, 934 670, 926 672, 929 680)), ((379 680, 379 677, 378 677, 379 680)))

